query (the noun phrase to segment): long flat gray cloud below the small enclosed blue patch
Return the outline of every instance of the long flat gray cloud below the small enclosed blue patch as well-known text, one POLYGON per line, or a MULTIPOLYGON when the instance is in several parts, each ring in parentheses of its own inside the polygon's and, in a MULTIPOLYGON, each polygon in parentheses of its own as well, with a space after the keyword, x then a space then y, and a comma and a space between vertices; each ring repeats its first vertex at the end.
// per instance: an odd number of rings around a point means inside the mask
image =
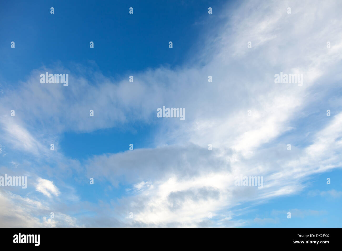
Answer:
POLYGON ((122 177, 129 182, 162 179, 170 174, 186 179, 213 170, 230 170, 223 158, 195 144, 94 156, 87 163, 89 177, 109 179, 113 185, 122 177))

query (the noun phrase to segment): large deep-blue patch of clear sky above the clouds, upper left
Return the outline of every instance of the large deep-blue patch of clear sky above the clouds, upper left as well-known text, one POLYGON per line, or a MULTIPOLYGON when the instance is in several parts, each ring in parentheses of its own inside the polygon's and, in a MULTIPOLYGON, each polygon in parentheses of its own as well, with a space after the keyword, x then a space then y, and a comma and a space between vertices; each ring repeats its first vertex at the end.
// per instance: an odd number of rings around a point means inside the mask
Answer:
MULTIPOLYGON (((14 74, 28 75, 42 65, 57 62, 68 66, 73 63, 88 65, 93 61, 97 65, 95 69, 113 78, 166 64, 170 67, 182 65, 190 56, 189 50, 196 51, 196 40, 205 31, 196 22, 208 19, 206 4, 209 4, 206 1, 16 3, 3 3, 1 8, 0 27, 4 33, 1 43, 5 56, 2 68, 8 67, 14 74), (50 5, 56 9, 53 15, 44 11, 50 9, 50 5), (133 5, 135 13, 127 16, 123 10, 133 5), (160 46, 171 38, 177 44, 172 51, 168 46, 160 46), (21 45, 16 47, 18 50, 13 52, 5 46, 8 39, 21 45), (88 40, 94 41, 95 50, 90 50, 89 43, 84 43, 88 40)), ((220 8, 222 3, 211 4, 220 8)), ((209 18, 213 20, 207 30, 219 22, 217 17, 209 18)), ((9 76, 3 78, 12 81, 9 76)))

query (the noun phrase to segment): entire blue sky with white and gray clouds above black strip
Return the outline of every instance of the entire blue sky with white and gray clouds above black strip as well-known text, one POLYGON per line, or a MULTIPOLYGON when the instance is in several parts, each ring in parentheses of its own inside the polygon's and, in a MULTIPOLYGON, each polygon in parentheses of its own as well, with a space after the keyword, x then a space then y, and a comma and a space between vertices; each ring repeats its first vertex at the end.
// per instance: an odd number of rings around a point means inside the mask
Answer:
POLYGON ((341 226, 338 1, 1 5, 0 226, 341 226))

